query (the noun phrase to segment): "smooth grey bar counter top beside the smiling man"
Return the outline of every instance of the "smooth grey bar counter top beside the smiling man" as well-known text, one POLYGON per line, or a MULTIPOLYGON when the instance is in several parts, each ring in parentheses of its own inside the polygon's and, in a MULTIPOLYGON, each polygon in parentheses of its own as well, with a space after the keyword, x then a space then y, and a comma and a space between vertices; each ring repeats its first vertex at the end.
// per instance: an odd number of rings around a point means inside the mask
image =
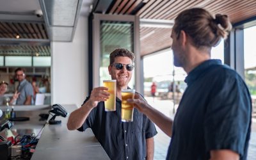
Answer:
MULTIPOLYGON (((69 114, 77 108, 76 105, 63 107, 69 114)), ((68 116, 56 116, 56 120, 61 120, 61 124, 45 124, 31 159, 109 159, 91 129, 84 132, 68 131, 68 116)))

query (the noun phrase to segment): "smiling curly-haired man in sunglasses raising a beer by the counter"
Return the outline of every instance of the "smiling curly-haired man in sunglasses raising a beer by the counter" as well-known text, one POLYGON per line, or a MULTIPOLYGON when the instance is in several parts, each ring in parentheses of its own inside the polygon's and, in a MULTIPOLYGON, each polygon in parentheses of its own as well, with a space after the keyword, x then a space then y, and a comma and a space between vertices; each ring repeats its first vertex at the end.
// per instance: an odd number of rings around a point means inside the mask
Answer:
POLYGON ((81 108, 70 114, 67 127, 78 131, 90 127, 110 159, 153 159, 153 137, 157 134, 154 124, 137 109, 134 109, 133 122, 121 122, 121 90, 129 88, 134 53, 116 49, 109 58, 109 75, 116 79, 116 111, 104 111, 108 88, 93 88, 81 108))

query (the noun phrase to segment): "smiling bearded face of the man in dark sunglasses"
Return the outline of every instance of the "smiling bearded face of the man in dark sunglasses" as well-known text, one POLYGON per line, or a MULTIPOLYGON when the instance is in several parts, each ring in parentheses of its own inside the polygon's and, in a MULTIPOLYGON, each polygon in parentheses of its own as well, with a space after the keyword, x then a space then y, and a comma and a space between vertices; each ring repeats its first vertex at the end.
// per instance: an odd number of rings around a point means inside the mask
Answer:
MULTIPOLYGON (((122 63, 124 65, 132 64, 132 60, 129 57, 117 56, 115 57, 114 63, 122 63)), ((111 79, 116 79, 116 87, 119 89, 127 89, 129 81, 132 78, 132 70, 129 71, 124 66, 121 70, 118 70, 115 66, 109 65, 109 75, 111 79)))

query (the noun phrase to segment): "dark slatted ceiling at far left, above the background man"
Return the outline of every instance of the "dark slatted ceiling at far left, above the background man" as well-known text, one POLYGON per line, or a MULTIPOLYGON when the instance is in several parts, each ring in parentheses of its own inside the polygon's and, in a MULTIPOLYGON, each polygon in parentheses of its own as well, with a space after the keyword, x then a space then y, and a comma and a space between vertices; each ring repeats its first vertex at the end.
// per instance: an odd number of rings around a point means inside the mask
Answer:
MULTIPOLYGON (((6 45, 0 42, 0 56, 51 56, 50 43, 35 45, 33 40, 48 40, 45 24, 42 22, 0 22, 0 38, 8 38, 13 43, 6 45), (17 45, 19 39, 29 39, 27 45, 17 45), (15 41, 17 40, 17 41, 15 41), (31 45, 31 43, 33 45, 31 45)), ((38 43, 39 44, 39 43, 38 43)))

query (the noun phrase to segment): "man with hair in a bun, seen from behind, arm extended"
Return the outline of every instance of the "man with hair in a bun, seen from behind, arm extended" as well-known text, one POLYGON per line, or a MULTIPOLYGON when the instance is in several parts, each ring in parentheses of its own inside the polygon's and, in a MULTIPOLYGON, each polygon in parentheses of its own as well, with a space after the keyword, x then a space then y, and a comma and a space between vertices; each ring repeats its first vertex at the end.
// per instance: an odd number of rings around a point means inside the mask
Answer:
POLYGON ((172 29, 174 65, 188 84, 174 121, 136 95, 136 108, 172 137, 166 159, 246 159, 252 119, 250 93, 235 70, 211 60, 211 47, 226 38, 227 15, 202 8, 181 12, 172 29))

